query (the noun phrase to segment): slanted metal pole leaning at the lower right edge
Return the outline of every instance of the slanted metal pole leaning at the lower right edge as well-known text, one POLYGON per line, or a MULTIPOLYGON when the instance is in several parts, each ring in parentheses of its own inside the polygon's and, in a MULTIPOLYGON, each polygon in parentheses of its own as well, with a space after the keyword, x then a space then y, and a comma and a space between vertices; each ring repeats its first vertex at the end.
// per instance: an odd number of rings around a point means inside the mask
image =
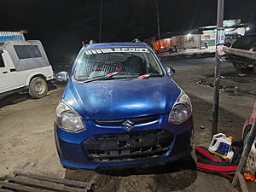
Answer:
POLYGON ((255 136, 256 136, 256 119, 253 121, 253 126, 251 128, 251 131, 248 133, 249 136, 247 137, 246 144, 243 148, 242 154, 241 154, 241 160, 239 161, 239 164, 237 166, 236 175, 233 179, 232 185, 236 186, 238 183, 238 176, 237 173, 240 173, 243 169, 243 166, 246 163, 247 157, 251 151, 255 136))

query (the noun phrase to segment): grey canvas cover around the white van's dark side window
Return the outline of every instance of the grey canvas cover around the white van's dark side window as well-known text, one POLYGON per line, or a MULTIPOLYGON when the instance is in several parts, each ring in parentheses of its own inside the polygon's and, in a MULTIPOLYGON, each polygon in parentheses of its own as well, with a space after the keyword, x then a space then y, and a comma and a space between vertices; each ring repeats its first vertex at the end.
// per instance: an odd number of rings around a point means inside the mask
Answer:
POLYGON ((49 61, 47 55, 44 52, 44 47, 38 40, 32 41, 6 41, 4 44, 0 44, 0 49, 8 51, 10 58, 14 62, 16 71, 24 71, 27 69, 38 68, 38 67, 47 67, 49 66, 49 61), (19 45, 35 45, 38 46, 40 53, 36 58, 26 58, 20 59, 15 51, 14 46, 19 45))

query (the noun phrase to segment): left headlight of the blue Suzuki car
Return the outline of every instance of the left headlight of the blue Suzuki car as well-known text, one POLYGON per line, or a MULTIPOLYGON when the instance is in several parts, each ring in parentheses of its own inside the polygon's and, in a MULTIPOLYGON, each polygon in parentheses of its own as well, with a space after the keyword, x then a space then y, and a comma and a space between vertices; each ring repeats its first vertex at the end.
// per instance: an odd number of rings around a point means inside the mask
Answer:
POLYGON ((61 129, 67 131, 81 131, 85 129, 79 113, 65 102, 60 102, 56 108, 56 124, 61 129))

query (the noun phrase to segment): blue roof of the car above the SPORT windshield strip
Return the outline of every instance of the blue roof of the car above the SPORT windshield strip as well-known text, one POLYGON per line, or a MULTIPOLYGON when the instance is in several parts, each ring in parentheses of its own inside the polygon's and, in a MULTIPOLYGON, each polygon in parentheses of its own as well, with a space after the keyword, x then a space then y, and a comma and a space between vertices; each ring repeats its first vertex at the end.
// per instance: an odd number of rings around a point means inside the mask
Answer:
POLYGON ((150 48, 148 44, 138 42, 114 42, 114 43, 101 43, 101 44, 87 44, 84 49, 99 49, 99 48, 115 48, 115 47, 143 47, 150 48))

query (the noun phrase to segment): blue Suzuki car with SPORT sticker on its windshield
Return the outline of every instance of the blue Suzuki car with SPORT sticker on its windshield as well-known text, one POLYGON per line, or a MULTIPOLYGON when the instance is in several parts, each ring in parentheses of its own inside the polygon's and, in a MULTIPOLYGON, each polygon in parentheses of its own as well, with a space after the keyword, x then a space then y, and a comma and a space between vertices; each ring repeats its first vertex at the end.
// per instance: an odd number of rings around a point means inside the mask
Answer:
POLYGON ((55 143, 62 166, 121 169, 188 157, 189 96, 154 51, 141 42, 87 44, 56 108, 55 143))

